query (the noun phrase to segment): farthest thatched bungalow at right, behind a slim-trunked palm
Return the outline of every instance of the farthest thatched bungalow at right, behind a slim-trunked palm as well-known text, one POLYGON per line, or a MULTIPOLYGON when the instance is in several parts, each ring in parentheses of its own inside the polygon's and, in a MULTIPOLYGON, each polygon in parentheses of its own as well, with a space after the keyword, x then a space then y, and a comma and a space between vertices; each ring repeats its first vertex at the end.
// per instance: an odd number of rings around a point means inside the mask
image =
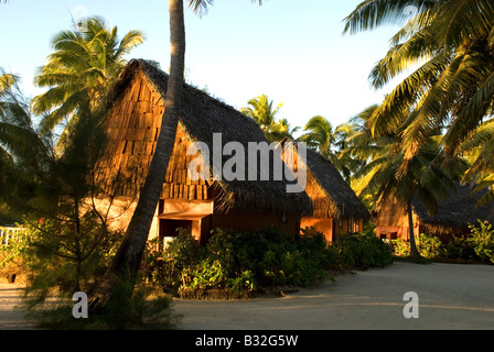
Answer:
MULTIPOLYGON (((494 204, 479 207, 483 193, 472 194, 473 187, 472 184, 457 184, 434 213, 430 213, 416 197, 412 201, 415 235, 428 233, 448 241, 452 235, 470 233, 469 224, 475 224, 477 220, 494 222, 494 204)), ((377 237, 382 239, 410 238, 406 208, 396 201, 383 205, 375 215, 375 222, 377 237)))

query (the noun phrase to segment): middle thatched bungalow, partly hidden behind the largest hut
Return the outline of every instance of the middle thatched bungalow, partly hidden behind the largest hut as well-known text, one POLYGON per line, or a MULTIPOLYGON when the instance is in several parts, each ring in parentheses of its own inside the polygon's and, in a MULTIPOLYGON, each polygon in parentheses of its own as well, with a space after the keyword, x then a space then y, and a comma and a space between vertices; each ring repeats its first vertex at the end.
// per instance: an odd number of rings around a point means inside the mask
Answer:
MULTIPOLYGON (((297 147, 288 139, 280 142, 281 145, 287 143, 297 147)), ((302 164, 307 168, 305 193, 312 200, 313 210, 302 218, 301 228, 314 228, 329 241, 348 232, 363 231, 370 215, 331 161, 307 148, 307 160, 302 164)))

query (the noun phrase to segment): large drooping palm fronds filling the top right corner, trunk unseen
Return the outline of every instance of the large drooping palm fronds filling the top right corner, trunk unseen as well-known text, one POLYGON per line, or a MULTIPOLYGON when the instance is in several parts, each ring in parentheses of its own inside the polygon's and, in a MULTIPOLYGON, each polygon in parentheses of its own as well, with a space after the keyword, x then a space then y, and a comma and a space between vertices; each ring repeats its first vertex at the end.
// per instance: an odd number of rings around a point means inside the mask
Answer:
POLYGON ((383 1, 366 0, 346 18, 345 33, 373 30, 400 22, 407 7, 416 14, 393 38, 391 47, 372 70, 380 88, 412 69, 375 111, 374 134, 399 128, 405 153, 402 173, 421 145, 441 129, 444 152, 451 157, 479 127, 494 102, 494 4, 490 0, 383 1))

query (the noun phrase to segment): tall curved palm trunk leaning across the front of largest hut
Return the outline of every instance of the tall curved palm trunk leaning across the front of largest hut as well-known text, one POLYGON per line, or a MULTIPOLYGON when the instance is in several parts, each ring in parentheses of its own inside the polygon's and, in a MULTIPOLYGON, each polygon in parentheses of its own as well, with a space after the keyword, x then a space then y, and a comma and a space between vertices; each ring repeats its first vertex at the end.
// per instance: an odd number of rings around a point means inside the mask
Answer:
POLYGON ((139 200, 124 240, 101 283, 89 297, 93 309, 103 307, 111 298, 115 279, 128 279, 133 285, 141 265, 149 230, 158 206, 163 180, 175 141, 182 106, 185 61, 185 24, 183 0, 169 0, 171 64, 165 110, 155 151, 149 166, 139 200))

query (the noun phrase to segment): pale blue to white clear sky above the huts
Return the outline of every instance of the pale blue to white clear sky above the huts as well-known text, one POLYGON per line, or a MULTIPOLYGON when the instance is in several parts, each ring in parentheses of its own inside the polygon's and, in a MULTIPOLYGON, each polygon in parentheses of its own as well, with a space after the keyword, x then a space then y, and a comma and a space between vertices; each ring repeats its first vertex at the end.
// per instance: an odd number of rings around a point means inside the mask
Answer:
MULTIPOLYGON (((240 109, 267 95, 282 102, 278 118, 303 127, 323 116, 337 125, 373 103, 395 82, 374 90, 372 67, 385 56, 398 28, 343 35, 344 19, 362 0, 215 0, 207 13, 185 9, 187 81, 240 109)), ((185 3, 189 1, 185 0, 185 3)), ((84 15, 103 16, 120 37, 140 30, 146 42, 130 58, 170 66, 165 0, 9 0, 0 3, 0 67, 18 74, 29 97, 46 64, 51 38, 84 15)))

